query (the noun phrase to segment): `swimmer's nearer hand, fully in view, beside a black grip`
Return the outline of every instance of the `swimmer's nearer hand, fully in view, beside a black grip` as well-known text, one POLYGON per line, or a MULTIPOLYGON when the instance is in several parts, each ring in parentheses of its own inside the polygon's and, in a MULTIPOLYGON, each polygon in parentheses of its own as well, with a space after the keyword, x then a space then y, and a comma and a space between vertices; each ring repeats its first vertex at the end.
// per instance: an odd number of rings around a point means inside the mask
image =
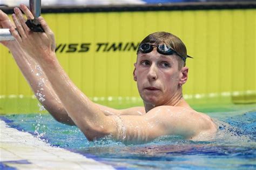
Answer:
MULTIPOLYGON (((21 4, 20 7, 28 19, 34 18, 30 10, 24 4, 21 4)), ((38 21, 41 23, 45 32, 36 33, 32 32, 25 24, 26 19, 23 17, 21 10, 15 8, 14 12, 12 19, 14 20, 17 31, 14 26, 11 26, 10 31, 22 49, 36 60, 55 59, 50 58, 50 56, 52 56, 50 54, 54 53, 56 48, 55 37, 43 17, 39 17, 38 21)))

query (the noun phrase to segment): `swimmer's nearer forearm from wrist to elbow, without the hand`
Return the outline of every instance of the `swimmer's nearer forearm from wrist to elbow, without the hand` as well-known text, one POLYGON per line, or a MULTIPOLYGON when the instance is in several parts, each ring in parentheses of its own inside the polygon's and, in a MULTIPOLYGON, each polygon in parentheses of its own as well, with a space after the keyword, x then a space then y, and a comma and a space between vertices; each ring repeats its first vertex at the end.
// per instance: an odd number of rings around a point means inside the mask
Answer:
POLYGON ((72 83, 59 65, 54 52, 45 55, 38 57, 39 63, 75 124, 89 139, 110 134, 114 127, 112 119, 72 83))

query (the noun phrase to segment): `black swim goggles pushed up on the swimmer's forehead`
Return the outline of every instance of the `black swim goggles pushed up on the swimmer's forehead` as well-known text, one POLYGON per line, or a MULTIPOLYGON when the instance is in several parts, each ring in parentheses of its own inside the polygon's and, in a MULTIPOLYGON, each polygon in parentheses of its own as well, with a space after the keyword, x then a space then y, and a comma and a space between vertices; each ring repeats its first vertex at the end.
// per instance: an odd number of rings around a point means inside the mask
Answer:
MULTIPOLYGON (((178 53, 177 51, 175 51, 174 49, 172 49, 169 45, 166 44, 160 44, 160 45, 153 45, 150 43, 143 43, 139 46, 138 51, 142 52, 142 53, 150 53, 151 51, 153 51, 154 46, 157 47, 157 52, 159 52, 161 55, 173 55, 173 53, 176 53, 181 59, 184 60, 184 62, 186 62, 186 58, 193 58, 190 56, 184 57, 181 56, 180 53, 178 53)), ((137 53, 138 53, 137 51, 137 53)))

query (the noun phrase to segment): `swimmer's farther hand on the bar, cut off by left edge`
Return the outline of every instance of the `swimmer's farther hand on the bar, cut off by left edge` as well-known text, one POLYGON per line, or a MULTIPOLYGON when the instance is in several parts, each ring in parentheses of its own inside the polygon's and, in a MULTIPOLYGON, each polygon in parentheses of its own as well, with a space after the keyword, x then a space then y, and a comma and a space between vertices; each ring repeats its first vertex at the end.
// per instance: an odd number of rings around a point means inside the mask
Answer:
MULTIPOLYGON (((0 10, 0 29, 3 29, 3 28, 9 29, 11 27, 14 27, 14 24, 11 23, 8 15, 6 15, 6 13, 0 10)), ((0 43, 8 47, 9 50, 12 50, 18 46, 18 43, 16 42, 16 40, 6 40, 0 43)))

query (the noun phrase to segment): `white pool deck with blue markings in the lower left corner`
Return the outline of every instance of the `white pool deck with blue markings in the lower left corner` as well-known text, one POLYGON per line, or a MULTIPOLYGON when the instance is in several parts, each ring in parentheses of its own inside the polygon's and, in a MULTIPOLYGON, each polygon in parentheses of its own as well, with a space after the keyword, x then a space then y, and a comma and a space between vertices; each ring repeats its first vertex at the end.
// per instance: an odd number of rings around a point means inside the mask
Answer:
POLYGON ((114 169, 83 155, 52 147, 0 120, 0 169, 114 169))

